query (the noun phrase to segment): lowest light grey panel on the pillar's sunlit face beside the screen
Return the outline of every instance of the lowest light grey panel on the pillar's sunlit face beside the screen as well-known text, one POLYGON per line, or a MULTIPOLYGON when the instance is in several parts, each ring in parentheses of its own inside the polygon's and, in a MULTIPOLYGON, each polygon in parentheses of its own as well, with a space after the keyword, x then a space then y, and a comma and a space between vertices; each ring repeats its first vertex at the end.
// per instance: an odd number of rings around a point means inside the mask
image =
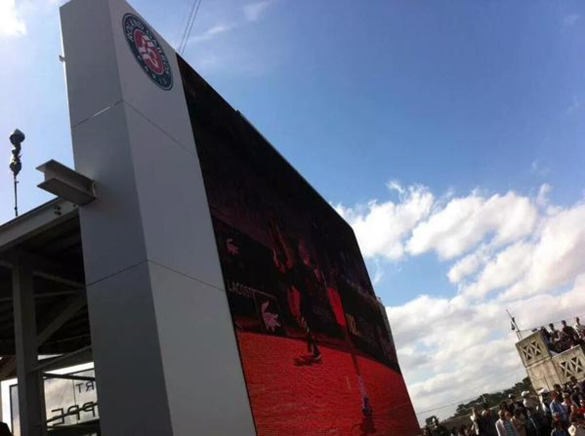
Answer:
POLYGON ((225 292, 149 269, 173 434, 256 434, 225 292))

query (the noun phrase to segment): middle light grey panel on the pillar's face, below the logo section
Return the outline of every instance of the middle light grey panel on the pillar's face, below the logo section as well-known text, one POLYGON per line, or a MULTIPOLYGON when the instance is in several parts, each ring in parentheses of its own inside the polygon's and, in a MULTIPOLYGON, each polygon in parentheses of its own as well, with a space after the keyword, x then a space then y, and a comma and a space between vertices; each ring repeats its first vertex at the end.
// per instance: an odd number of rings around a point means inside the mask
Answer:
POLYGON ((197 155, 125 108, 148 258, 223 289, 197 155))

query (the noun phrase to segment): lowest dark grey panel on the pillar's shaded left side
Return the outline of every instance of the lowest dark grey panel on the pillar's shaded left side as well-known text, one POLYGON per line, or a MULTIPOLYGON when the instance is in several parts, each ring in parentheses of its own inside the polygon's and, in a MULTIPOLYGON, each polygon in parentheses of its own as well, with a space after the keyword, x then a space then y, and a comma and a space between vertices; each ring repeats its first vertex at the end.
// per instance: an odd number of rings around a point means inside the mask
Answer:
POLYGON ((87 297, 102 434, 174 434, 147 263, 89 286, 87 297))

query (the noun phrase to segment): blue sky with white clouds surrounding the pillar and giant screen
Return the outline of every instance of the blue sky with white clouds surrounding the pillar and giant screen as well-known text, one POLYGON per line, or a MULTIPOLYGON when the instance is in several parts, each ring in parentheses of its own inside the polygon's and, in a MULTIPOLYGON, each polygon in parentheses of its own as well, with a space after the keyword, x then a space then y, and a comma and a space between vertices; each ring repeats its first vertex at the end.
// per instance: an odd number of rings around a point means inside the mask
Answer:
MULTIPOLYGON (((175 45, 186 4, 132 2, 175 45)), ((27 134, 22 211, 49 199, 37 165, 73 165, 58 5, 0 0, 0 131, 27 134)), ((584 9, 202 1, 184 57, 354 226, 418 410, 522 376, 505 307, 530 326, 585 312, 584 9), (449 368, 475 342, 409 328, 462 319, 505 364, 449 368), (445 380, 466 387, 445 393, 445 380)), ((4 222, 7 164, 0 195, 4 222)))

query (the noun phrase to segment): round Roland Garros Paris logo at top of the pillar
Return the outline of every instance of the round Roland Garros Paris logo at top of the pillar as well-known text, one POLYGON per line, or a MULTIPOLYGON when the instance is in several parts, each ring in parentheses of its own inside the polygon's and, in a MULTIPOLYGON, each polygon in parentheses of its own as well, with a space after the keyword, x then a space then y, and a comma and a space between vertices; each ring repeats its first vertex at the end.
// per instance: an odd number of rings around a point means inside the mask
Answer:
POLYGON ((150 27, 133 13, 124 15, 122 25, 132 54, 150 80, 161 89, 173 88, 171 65, 150 27))

